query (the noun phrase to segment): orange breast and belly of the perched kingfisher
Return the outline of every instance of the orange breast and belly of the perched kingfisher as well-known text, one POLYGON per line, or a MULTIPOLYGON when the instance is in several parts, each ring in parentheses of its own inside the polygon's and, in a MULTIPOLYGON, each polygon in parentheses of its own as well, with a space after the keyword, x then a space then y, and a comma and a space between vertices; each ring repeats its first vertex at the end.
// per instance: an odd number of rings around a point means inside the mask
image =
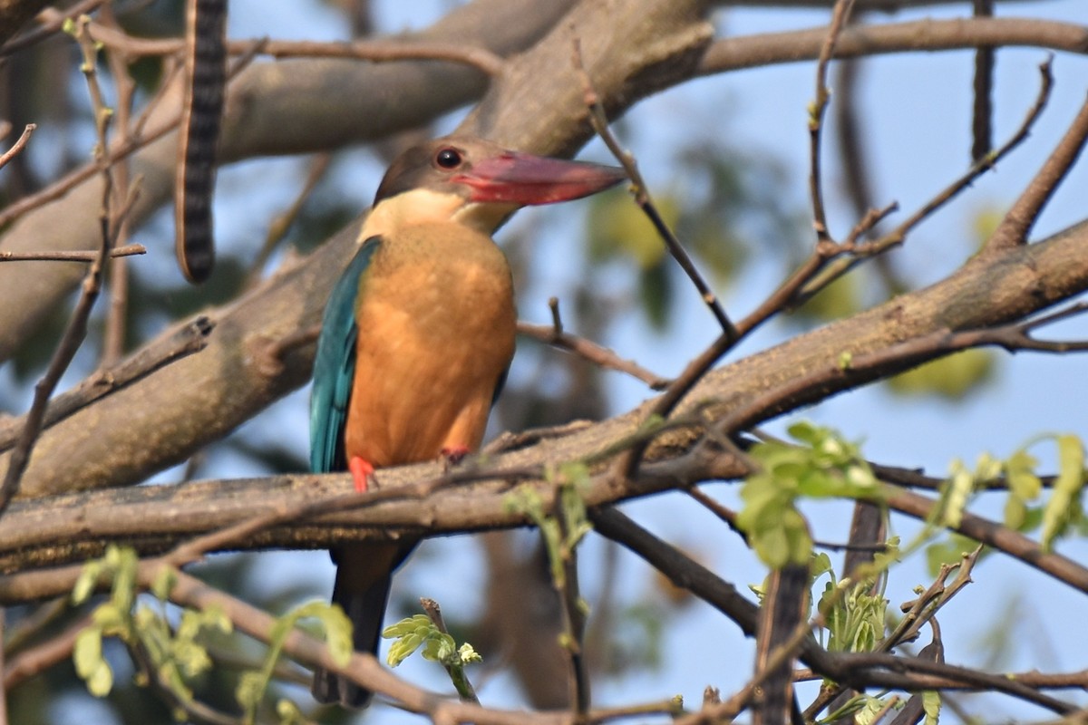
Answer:
POLYGON ((479 448, 514 357, 502 252, 460 225, 409 227, 383 238, 361 284, 348 458, 380 467, 479 448))

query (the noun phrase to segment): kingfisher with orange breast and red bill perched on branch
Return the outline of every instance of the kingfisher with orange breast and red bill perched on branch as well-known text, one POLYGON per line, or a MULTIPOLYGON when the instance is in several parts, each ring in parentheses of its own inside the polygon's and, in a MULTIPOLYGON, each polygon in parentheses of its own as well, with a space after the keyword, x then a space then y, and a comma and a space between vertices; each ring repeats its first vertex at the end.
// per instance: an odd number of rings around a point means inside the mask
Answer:
MULTIPOLYGON (((374 468, 479 448, 514 357, 510 268, 491 235, 517 209, 578 199, 623 172, 446 137, 390 166, 359 246, 325 308, 310 400, 310 467, 374 468)), ((355 649, 375 653, 390 582, 415 540, 345 545, 333 603, 355 649)), ((364 707, 371 692, 318 670, 321 702, 364 707)))

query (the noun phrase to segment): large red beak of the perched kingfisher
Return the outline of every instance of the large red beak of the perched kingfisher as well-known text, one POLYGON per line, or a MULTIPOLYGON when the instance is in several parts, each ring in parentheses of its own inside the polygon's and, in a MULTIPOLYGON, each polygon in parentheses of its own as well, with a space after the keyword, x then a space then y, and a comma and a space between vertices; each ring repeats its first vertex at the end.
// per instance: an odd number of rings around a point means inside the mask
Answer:
POLYGON ((615 166, 506 151, 475 162, 453 180, 472 188, 472 201, 549 204, 596 193, 625 178, 615 166))

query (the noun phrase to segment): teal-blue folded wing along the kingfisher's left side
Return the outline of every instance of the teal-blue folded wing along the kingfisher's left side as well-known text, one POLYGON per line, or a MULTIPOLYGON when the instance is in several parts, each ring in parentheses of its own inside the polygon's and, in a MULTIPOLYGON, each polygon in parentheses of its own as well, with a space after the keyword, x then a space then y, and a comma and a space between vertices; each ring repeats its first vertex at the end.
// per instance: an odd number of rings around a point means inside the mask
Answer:
POLYGON ((379 237, 362 243, 333 287, 321 320, 310 392, 310 471, 314 473, 347 471, 344 428, 351 401, 355 349, 359 338, 355 308, 362 275, 380 243, 379 237))

